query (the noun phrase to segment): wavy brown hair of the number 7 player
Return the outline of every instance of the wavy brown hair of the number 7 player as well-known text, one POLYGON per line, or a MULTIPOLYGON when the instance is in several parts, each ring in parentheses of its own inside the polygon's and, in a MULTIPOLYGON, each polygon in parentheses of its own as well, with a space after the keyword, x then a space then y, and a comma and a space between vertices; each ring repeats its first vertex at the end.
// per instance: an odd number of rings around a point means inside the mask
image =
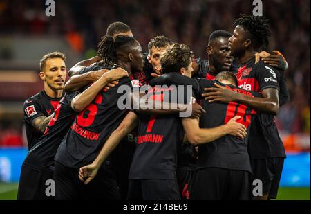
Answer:
POLYGON ((185 44, 173 44, 173 46, 162 55, 160 63, 163 73, 179 73, 180 69, 187 68, 191 63, 193 52, 185 44))

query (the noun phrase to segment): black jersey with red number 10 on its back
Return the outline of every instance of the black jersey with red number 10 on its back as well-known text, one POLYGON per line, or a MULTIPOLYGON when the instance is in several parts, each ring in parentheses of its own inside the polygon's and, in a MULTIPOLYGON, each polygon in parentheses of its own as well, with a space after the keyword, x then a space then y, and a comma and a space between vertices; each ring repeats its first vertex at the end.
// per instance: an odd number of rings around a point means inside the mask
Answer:
MULTIPOLYGON (((200 98, 200 94, 205 93, 204 88, 214 87, 215 82, 204 79, 198 79, 198 82, 200 85, 198 99, 202 100, 202 107, 207 111, 206 114, 200 117, 200 127, 218 127, 229 122, 234 116, 241 116, 241 119, 236 122, 247 127, 247 136, 245 139, 238 139, 235 136, 226 135, 216 141, 199 145, 197 168, 217 167, 252 172, 247 153, 247 142, 251 123, 254 121, 256 112, 236 102, 210 103, 200 98)), ((220 82, 217 83, 221 84, 220 82)), ((236 93, 243 93, 246 96, 260 97, 259 93, 239 89, 232 85, 227 85, 227 88, 236 93)))

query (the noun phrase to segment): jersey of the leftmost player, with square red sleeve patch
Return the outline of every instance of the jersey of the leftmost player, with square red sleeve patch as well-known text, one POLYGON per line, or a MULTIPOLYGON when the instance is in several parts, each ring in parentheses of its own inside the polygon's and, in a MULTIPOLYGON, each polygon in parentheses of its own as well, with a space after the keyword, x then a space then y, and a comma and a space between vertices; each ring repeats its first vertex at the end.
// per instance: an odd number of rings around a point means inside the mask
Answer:
POLYGON ((32 127, 32 121, 39 116, 50 116, 61 98, 50 98, 45 91, 37 93, 23 103, 23 122, 26 128, 28 150, 35 145, 42 133, 32 127))

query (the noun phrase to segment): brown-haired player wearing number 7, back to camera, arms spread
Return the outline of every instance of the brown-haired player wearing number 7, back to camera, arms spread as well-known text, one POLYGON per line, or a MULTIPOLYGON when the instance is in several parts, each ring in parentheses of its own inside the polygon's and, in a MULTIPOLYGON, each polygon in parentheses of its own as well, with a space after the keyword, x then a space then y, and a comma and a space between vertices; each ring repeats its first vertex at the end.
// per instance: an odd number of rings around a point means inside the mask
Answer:
MULTIPOLYGON (((182 75, 191 77, 191 55, 187 46, 174 44, 161 59, 162 71, 164 73, 182 73, 182 75)), ((158 81, 155 83, 164 84, 164 82, 158 81)), ((162 100, 161 98, 166 96, 171 98, 174 93, 178 93, 178 90, 180 89, 176 87, 168 87, 163 90, 155 88, 149 91, 149 96, 162 100)), ((192 91, 190 94, 184 93, 188 96, 183 100, 195 100, 192 94, 192 91)), ((176 180, 176 165, 184 132, 182 121, 176 115, 148 116, 138 113, 138 116, 135 116, 133 112, 130 112, 120 127, 106 141, 100 156, 91 165, 80 168, 80 179, 86 178, 86 183, 88 183, 95 177, 102 161, 106 159, 120 138, 135 127, 137 117, 139 117, 138 145, 129 173, 129 199, 180 199, 176 180)), ((195 140, 191 139, 191 143, 207 143, 226 134, 243 138, 246 133, 245 127, 234 120, 211 129, 200 129, 196 119, 185 123, 187 131, 192 134, 191 136, 195 136, 195 140)))

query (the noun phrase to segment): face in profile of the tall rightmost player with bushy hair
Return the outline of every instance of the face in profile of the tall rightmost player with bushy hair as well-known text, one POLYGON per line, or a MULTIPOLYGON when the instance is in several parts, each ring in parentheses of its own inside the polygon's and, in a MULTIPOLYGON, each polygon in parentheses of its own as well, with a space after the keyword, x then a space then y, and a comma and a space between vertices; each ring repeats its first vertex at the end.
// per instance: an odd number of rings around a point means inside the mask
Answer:
POLYGON ((239 57, 245 53, 245 47, 243 46, 243 43, 245 42, 244 35, 245 32, 243 26, 236 26, 232 37, 229 38, 230 55, 239 57))

